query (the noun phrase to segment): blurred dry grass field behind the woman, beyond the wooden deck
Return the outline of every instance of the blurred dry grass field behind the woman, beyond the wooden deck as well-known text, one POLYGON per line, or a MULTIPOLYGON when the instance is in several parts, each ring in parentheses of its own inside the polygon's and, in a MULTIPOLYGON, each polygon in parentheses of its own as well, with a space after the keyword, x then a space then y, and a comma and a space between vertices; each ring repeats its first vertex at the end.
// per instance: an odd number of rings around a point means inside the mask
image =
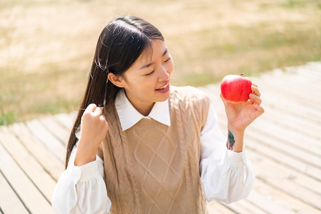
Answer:
POLYGON ((321 0, 0 0, 0 125, 76 110, 97 38, 119 14, 163 32, 175 85, 321 56, 321 0))

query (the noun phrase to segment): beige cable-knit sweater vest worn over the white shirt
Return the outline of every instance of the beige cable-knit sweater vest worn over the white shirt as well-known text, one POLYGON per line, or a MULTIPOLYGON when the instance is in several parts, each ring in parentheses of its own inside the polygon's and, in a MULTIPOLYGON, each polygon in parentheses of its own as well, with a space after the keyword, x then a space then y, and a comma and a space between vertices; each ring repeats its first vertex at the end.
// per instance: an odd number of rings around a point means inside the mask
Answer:
POLYGON ((98 155, 111 213, 205 213, 200 182, 200 131, 210 99, 192 87, 171 87, 171 126, 142 119, 122 131, 114 104, 98 155))

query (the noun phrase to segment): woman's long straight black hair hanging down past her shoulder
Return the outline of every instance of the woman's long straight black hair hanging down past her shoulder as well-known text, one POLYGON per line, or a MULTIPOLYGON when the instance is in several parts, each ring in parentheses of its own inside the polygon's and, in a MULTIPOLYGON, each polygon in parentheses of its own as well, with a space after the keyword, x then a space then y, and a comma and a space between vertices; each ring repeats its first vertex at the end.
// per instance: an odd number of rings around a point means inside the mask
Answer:
POLYGON ((75 132, 80 127, 81 118, 87 106, 90 103, 103 106, 104 99, 106 103, 114 102, 121 90, 112 82, 107 82, 107 74, 111 72, 124 78, 124 73, 142 52, 151 48, 152 40, 164 41, 164 37, 157 28, 137 16, 118 16, 103 29, 97 41, 87 88, 69 136, 66 168, 71 150, 77 140, 75 132))

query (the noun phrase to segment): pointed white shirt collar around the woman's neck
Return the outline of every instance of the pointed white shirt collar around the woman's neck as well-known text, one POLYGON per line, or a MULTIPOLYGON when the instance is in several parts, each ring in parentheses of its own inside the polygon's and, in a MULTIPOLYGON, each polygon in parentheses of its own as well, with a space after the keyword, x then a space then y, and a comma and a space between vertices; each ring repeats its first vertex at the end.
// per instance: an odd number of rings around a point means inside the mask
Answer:
POLYGON ((143 118, 154 119, 165 125, 171 125, 168 99, 164 102, 155 102, 151 112, 145 117, 134 108, 126 97, 124 90, 121 90, 115 99, 115 107, 123 131, 129 129, 143 118))

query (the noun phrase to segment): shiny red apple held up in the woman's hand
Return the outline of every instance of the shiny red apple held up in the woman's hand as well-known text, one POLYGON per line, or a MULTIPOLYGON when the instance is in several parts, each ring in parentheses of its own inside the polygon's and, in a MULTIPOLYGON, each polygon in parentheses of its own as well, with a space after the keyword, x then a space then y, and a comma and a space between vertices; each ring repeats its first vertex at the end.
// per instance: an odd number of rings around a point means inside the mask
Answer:
POLYGON ((220 82, 223 97, 232 102, 245 102, 249 99, 252 81, 241 75, 227 75, 220 82))

